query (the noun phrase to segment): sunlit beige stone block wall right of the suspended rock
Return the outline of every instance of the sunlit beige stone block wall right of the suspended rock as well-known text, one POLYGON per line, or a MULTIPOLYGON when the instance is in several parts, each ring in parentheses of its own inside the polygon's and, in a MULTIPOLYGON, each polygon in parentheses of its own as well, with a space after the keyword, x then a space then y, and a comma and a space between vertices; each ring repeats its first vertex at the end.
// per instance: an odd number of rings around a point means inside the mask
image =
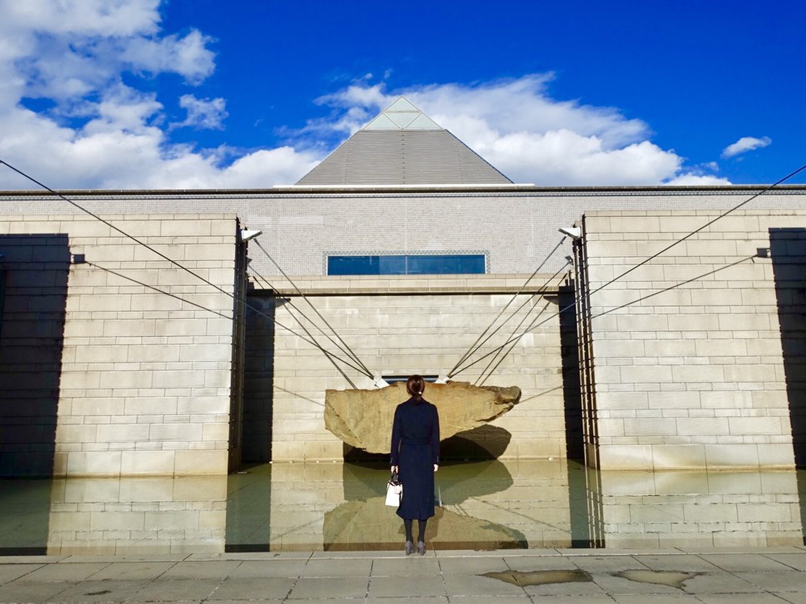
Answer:
POLYGON ((806 212, 731 213, 596 292, 717 215, 584 217, 604 470, 793 464, 779 324, 787 302, 776 295, 775 259, 753 256, 771 247, 771 229, 806 227, 806 212))

